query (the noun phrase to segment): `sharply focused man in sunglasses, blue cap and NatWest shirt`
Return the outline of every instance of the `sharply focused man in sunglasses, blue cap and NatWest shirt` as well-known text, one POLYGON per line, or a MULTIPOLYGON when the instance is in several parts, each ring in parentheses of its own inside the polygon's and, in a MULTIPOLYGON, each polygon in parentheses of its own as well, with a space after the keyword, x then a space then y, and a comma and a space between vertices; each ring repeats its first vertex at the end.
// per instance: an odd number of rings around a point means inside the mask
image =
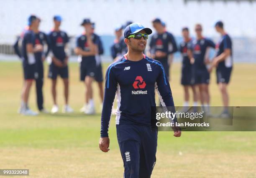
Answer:
MULTIPOLYGON (((151 33, 140 23, 128 25, 124 31, 128 53, 106 72, 99 147, 103 152, 109 151, 108 127, 116 93, 116 129, 125 178, 149 178, 156 163, 157 131, 151 129, 155 90, 162 105, 174 106, 163 65, 143 54, 151 33)), ((181 131, 174 130, 174 136, 179 137, 181 131)))

